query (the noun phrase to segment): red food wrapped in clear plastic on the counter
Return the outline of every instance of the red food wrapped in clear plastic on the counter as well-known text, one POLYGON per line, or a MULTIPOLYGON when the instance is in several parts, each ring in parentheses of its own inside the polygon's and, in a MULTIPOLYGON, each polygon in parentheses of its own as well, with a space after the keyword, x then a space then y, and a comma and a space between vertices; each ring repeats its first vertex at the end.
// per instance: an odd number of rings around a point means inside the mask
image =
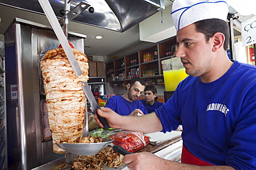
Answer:
POLYGON ((114 145, 119 145, 129 152, 135 152, 149 144, 149 137, 138 131, 122 131, 109 136, 114 145))

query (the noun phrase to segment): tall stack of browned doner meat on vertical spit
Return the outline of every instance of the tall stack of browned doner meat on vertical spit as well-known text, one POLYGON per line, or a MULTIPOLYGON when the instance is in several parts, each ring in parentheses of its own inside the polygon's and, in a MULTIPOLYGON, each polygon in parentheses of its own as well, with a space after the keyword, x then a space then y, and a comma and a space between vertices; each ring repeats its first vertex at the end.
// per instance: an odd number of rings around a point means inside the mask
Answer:
POLYGON ((41 60, 48 119, 53 136, 53 151, 65 153, 58 142, 79 142, 84 128, 86 96, 81 81, 89 79, 89 60, 79 50, 72 49, 81 67, 77 77, 62 48, 46 52, 41 60))

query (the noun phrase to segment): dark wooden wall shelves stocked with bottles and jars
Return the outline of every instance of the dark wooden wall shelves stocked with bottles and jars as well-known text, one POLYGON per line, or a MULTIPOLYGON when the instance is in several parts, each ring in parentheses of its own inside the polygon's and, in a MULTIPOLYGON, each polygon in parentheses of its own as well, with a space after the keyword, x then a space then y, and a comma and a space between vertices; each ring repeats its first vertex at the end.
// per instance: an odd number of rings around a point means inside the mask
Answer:
POLYGON ((161 61, 172 57, 175 44, 176 37, 172 37, 106 62, 107 82, 113 83, 112 87, 123 87, 136 76, 163 78, 161 61))

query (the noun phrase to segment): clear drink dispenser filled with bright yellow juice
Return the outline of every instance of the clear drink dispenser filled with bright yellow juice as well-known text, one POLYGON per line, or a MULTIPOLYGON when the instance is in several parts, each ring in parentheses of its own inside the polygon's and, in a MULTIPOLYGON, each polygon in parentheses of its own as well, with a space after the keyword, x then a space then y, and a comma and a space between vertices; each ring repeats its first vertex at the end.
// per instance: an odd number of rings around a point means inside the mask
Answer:
POLYGON ((185 73, 185 67, 183 67, 183 64, 181 63, 180 58, 172 58, 172 59, 166 59, 162 62, 162 68, 163 68, 163 79, 165 81, 165 101, 169 99, 172 94, 174 93, 176 87, 178 84, 188 76, 188 74, 185 73))

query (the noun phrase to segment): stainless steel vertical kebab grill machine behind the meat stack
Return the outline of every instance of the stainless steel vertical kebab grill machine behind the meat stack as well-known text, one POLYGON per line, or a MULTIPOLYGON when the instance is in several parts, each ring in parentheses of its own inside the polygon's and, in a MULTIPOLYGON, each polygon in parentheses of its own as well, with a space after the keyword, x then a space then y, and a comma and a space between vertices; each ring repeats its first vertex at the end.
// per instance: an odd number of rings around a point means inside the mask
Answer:
MULTIPOLYGON (((75 11, 68 12, 70 7, 66 3, 65 15, 60 19, 60 23, 68 41, 77 50, 84 52, 86 35, 68 32, 68 21, 74 17, 74 14, 89 8, 89 5, 82 3, 77 5, 75 11)), ((90 9, 92 11, 92 8, 90 9)), ((33 169, 65 156, 53 152, 39 67, 42 56, 48 50, 57 48, 60 42, 51 27, 19 18, 12 21, 4 36, 8 89, 6 102, 8 166, 12 169, 33 169), (10 97, 12 94, 18 94, 18 98, 12 99, 10 97)))

